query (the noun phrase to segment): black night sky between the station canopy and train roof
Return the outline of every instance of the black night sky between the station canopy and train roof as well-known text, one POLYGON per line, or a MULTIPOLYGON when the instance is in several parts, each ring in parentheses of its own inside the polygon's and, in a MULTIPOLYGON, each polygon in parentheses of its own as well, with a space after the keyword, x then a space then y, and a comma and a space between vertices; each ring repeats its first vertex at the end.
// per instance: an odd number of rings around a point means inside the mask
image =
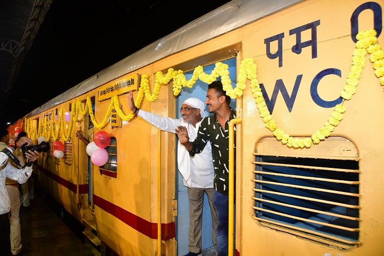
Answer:
POLYGON ((53 0, 0 125, 228 2, 53 0))

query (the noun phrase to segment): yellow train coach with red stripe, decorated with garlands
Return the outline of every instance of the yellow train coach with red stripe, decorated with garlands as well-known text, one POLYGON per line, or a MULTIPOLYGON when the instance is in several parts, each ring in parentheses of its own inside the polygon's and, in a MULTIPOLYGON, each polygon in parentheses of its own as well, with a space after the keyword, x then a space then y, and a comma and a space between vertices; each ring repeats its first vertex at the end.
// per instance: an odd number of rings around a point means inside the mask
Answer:
POLYGON ((178 138, 134 116, 129 92, 180 118, 186 98, 204 102, 221 79, 237 113, 230 254, 384 255, 383 4, 234 0, 196 19, 20 118, 51 143, 42 188, 104 254, 186 254, 178 138), (108 160, 77 131, 91 143, 106 134, 108 160))

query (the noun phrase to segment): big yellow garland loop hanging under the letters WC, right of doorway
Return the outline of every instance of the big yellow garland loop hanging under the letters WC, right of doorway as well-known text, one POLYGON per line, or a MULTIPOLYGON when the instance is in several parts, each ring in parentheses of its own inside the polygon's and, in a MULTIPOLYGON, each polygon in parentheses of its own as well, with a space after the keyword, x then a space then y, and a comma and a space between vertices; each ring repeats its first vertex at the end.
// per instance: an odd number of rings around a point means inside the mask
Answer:
MULTIPOLYGON (((362 69, 365 67, 365 57, 367 52, 371 54, 370 60, 374 63, 373 67, 376 70, 375 75, 380 78, 381 86, 384 85, 384 53, 380 49, 380 46, 376 45, 376 31, 368 30, 360 32, 357 34, 356 38, 358 41, 356 42, 356 50, 353 52, 352 65, 350 68, 350 72, 347 76, 344 90, 340 94, 340 96, 344 100, 351 99, 352 95, 356 92, 356 86, 358 84, 362 69)), ((343 119, 343 113, 346 111, 346 108, 345 106, 343 106, 343 104, 338 104, 335 106, 335 109, 332 112, 331 117, 328 119, 328 122, 326 122, 324 126, 321 127, 321 129, 317 130, 316 133, 311 136, 311 138, 298 139, 291 137, 290 135, 286 134, 283 130, 279 129, 275 121, 270 116, 255 74, 256 65, 254 65, 253 59, 244 59, 240 66, 238 76, 239 82, 237 84, 237 88, 244 88, 243 84, 245 83, 246 78, 251 80, 253 97, 255 98, 255 101, 258 104, 259 113, 266 124, 265 126, 273 133, 273 136, 276 137, 276 139, 280 140, 283 144, 286 144, 288 147, 309 148, 312 143, 318 144, 321 140, 324 140, 326 137, 329 137, 331 132, 334 130, 334 127, 336 127, 339 122, 343 119), (252 75, 254 75, 254 77, 251 77, 252 75)))

